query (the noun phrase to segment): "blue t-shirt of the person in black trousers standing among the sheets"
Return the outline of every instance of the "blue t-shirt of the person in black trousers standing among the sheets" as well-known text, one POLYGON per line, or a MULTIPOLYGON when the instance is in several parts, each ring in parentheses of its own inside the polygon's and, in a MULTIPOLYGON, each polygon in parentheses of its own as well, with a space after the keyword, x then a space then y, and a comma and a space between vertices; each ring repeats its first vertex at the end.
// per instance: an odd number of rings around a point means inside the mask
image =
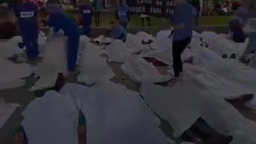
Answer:
POLYGON ((184 2, 174 7, 174 13, 171 16, 171 20, 174 26, 183 25, 181 30, 174 31, 173 41, 179 41, 184 38, 191 38, 193 33, 193 18, 196 12, 194 7, 189 3, 184 2))

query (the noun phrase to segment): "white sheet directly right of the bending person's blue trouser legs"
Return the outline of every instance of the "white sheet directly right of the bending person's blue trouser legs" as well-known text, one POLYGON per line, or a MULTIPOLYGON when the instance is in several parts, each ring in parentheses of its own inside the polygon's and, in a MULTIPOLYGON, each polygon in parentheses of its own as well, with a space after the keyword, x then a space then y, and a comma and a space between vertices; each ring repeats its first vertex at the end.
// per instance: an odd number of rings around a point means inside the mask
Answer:
POLYGON ((90 42, 86 43, 81 64, 78 82, 91 85, 98 81, 114 78, 115 74, 107 65, 106 58, 102 57, 100 48, 90 42))

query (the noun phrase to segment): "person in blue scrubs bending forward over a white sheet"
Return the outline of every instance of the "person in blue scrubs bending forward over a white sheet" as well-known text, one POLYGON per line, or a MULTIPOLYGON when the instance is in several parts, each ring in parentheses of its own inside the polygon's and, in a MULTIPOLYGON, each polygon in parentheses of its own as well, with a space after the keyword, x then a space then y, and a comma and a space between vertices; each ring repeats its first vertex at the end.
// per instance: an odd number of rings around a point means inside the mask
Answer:
POLYGON ((50 14, 46 9, 40 10, 40 17, 46 21, 50 30, 57 33, 58 30, 63 30, 66 37, 68 37, 67 48, 67 67, 70 72, 74 72, 78 58, 79 46, 79 30, 77 24, 66 14, 52 13, 50 14))

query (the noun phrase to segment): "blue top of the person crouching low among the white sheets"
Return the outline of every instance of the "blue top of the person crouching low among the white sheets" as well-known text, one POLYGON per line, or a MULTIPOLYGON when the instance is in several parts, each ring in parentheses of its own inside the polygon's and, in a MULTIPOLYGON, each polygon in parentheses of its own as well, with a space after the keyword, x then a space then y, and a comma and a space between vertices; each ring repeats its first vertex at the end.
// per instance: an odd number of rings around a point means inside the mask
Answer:
POLYGON ((107 35, 107 37, 123 40, 126 38, 126 35, 126 30, 122 26, 118 25, 114 27, 114 29, 110 32, 110 34, 107 35))

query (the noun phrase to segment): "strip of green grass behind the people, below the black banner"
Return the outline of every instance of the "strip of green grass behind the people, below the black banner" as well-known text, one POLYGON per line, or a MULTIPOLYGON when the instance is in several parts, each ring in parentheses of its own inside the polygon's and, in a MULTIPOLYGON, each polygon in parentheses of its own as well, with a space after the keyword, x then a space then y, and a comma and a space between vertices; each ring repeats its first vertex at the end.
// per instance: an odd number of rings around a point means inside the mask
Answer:
MULTIPOLYGON (((78 17, 78 13, 67 13, 70 16, 78 17)), ((202 26, 219 26, 219 25, 228 25, 230 21, 230 16, 202 16, 200 18, 200 25, 202 26)), ((114 20, 114 13, 102 13, 101 15, 101 26, 108 26, 111 20, 114 20)), ((140 15, 131 15, 130 17, 130 26, 141 26, 141 18, 140 15)), ((153 26, 170 26, 170 20, 165 18, 151 18, 151 25, 153 26)), ((93 18, 93 26, 94 26, 94 18, 93 18)), ((147 22, 145 19, 145 26, 147 26, 147 22)))

